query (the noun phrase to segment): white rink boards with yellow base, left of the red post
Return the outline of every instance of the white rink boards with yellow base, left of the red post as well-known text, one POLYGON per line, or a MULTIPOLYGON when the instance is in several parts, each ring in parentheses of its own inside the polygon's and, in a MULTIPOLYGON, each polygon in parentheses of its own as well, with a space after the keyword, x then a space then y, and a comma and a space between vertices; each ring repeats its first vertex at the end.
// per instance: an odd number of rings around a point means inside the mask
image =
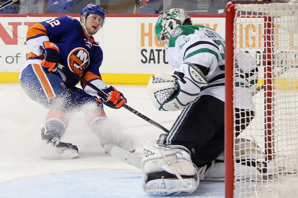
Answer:
MULTIPOLYGON (((30 49, 26 33, 37 22, 59 15, 1 15, 0 82, 17 80, 30 49)), ((79 19, 78 15, 72 15, 79 19)), ((225 37, 224 15, 191 15, 194 24, 215 29, 225 37)), ((110 84, 147 84, 156 73, 169 73, 167 49, 154 34, 158 15, 107 15, 103 29, 94 39, 103 49, 100 67, 103 80, 110 84), (136 17, 137 16, 137 17, 136 17)))

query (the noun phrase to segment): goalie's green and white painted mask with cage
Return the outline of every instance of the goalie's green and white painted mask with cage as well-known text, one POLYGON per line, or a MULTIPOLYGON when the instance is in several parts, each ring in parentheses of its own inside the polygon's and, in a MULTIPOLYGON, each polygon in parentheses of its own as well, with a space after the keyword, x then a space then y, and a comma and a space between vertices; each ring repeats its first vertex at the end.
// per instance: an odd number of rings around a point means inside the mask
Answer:
POLYGON ((173 30, 178 25, 184 25, 184 21, 190 18, 186 11, 180 8, 172 8, 166 13, 159 16, 155 25, 155 34, 158 42, 165 48, 168 48, 168 43, 173 30))

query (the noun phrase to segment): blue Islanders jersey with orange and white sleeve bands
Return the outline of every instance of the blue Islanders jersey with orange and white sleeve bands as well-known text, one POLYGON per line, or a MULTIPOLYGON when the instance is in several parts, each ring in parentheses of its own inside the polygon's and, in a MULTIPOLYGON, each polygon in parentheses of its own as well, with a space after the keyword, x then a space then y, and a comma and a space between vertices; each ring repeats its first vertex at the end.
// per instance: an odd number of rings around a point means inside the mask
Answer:
MULTIPOLYGON (((40 46, 44 41, 55 43, 59 48, 60 64, 68 67, 69 70, 83 77, 100 89, 107 88, 101 80, 99 67, 103 61, 103 51, 94 42, 94 38, 88 37, 78 20, 71 16, 61 16, 36 23, 27 32, 26 42, 31 52, 22 70, 30 64, 40 64, 44 59, 40 46)), ((79 80, 58 70, 63 81, 76 85, 79 80)), ((21 78, 21 75, 19 79, 21 78)), ((97 93, 85 84, 82 84, 84 91, 90 95, 97 96, 97 93)))

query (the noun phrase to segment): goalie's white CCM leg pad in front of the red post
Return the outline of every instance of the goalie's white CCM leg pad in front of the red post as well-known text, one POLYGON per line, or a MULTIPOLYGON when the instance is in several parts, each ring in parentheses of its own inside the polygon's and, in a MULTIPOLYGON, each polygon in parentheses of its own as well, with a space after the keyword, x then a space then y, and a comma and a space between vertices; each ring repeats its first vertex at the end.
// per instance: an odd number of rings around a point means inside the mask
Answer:
POLYGON ((166 196, 190 194, 199 184, 197 168, 177 152, 166 149, 142 159, 142 188, 146 193, 166 196))

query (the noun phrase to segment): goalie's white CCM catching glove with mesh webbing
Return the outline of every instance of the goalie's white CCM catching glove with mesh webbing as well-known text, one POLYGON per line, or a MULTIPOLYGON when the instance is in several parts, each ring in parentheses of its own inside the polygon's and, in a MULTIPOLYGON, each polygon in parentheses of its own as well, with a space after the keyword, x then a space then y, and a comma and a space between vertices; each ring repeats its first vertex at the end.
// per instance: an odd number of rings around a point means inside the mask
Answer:
POLYGON ((170 75, 156 74, 148 82, 148 93, 159 111, 177 111, 198 98, 201 87, 209 82, 201 70, 190 64, 182 64, 180 71, 170 75))

